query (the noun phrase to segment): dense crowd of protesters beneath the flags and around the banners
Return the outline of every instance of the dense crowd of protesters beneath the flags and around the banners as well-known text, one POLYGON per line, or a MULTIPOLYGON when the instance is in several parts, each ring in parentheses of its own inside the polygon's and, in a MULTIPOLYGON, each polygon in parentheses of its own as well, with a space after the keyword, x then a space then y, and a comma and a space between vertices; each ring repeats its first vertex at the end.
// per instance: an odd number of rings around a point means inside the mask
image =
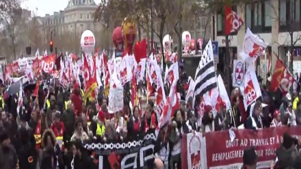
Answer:
MULTIPOLYGON (((181 98, 185 98, 187 81, 181 79, 179 91, 183 92, 181 98)), ((300 125, 301 93, 294 93, 293 96, 280 90, 270 93, 267 88, 268 83, 261 86, 262 99, 253 103, 247 111, 240 91, 235 88, 231 94, 231 111, 226 111, 226 105, 222 103, 221 112, 213 116, 213 108, 206 105, 201 124, 192 107, 192 98, 187 102, 181 99, 180 107, 175 110, 170 122, 168 137, 164 130, 159 132, 154 148, 155 161, 148 168, 181 168, 181 138, 184 133, 207 133, 239 126, 257 130, 300 125)), ((158 125, 154 101, 149 100, 141 109, 138 106, 131 108, 125 99, 123 111, 112 116, 108 112, 108 100, 103 89, 99 90, 95 100, 83 101, 83 90, 76 82, 68 89, 61 88, 57 83, 50 87, 44 83, 44 86, 40 85, 36 97, 32 96, 32 91, 25 90, 20 111, 16 109, 18 94, 5 96, 5 88, 2 91, 0 168, 3 169, 98 168, 83 148, 82 141, 135 140, 158 125)), ((298 140, 285 134, 271 168, 298 168, 296 166, 301 161, 299 147, 298 140)), ((243 161, 243 168, 256 168, 254 148, 245 151, 243 161)))

